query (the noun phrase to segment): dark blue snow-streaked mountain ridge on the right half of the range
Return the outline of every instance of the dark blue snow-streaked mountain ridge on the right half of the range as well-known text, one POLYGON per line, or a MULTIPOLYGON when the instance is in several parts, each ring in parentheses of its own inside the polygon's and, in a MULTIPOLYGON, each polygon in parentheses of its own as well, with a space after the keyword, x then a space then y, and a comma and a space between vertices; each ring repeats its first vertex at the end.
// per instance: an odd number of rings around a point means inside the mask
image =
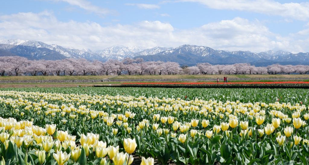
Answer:
POLYGON ((199 62, 211 64, 253 63, 268 65, 269 63, 308 63, 309 53, 292 54, 283 51, 266 51, 252 53, 250 51, 224 51, 215 50, 205 46, 182 45, 175 49, 166 50, 154 55, 140 55, 145 61, 173 61, 183 65, 195 65, 199 62))

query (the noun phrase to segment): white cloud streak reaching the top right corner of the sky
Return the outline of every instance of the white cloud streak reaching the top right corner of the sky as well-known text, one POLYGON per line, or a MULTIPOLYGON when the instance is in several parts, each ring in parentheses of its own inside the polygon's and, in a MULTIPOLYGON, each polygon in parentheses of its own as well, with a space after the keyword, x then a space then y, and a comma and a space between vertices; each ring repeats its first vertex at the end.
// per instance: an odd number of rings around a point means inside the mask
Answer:
POLYGON ((280 3, 273 0, 178 0, 176 2, 198 2, 209 8, 218 10, 257 12, 297 20, 309 19, 309 2, 280 3))

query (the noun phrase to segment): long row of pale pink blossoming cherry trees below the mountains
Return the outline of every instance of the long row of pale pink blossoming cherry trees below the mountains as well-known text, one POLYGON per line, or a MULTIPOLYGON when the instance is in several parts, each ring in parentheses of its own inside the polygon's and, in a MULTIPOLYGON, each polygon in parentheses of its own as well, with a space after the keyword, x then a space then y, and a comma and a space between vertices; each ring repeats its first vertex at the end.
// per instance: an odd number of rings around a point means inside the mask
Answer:
POLYGON ((182 66, 176 62, 143 61, 142 58, 125 58, 122 61, 87 61, 67 58, 64 60, 28 60, 24 57, 0 57, 1 76, 19 75, 173 75, 173 74, 307 74, 307 65, 279 65, 266 67, 247 63, 233 65, 211 65, 198 63, 196 66, 182 66))

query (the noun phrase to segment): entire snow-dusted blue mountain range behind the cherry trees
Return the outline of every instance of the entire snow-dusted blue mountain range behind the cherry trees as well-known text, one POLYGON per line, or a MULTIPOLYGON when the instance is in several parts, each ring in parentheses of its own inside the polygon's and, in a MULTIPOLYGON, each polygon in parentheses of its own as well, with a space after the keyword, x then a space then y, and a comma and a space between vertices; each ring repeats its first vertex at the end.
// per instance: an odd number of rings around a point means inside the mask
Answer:
POLYGON ((185 44, 177 48, 155 47, 151 49, 115 45, 103 50, 91 51, 90 49, 79 50, 55 44, 49 45, 40 41, 19 39, 0 40, 0 56, 22 56, 32 60, 85 58, 91 61, 122 60, 130 57, 143 58, 145 61, 173 61, 188 66, 193 66, 199 62, 211 64, 251 63, 255 66, 267 66, 276 63, 281 65, 309 65, 309 53, 293 54, 281 50, 269 50, 260 53, 250 51, 230 52, 185 44))

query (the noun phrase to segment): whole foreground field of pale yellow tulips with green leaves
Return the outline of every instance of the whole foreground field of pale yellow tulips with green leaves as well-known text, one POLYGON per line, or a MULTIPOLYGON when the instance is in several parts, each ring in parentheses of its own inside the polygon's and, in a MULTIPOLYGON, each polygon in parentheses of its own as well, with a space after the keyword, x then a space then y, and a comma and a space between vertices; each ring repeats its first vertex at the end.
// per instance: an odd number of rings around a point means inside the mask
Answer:
POLYGON ((0 89, 1 164, 308 164, 309 90, 0 89))

